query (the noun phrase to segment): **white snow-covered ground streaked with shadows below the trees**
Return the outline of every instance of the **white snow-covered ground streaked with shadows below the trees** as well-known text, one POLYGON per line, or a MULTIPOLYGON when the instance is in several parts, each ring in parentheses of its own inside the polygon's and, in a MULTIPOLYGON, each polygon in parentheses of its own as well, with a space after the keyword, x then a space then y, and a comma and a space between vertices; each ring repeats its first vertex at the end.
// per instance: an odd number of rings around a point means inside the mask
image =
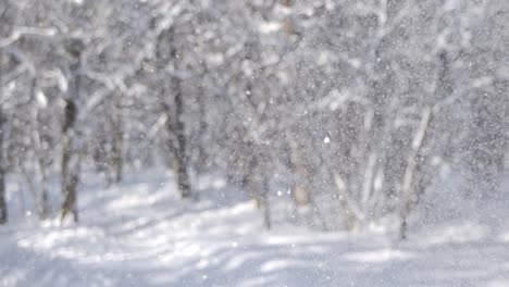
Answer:
POLYGON ((14 219, 0 227, 1 286, 509 286, 509 224, 499 215, 437 223, 398 242, 266 232, 252 202, 220 179, 204 182, 199 201, 178 200, 156 175, 87 186, 77 226, 14 219))

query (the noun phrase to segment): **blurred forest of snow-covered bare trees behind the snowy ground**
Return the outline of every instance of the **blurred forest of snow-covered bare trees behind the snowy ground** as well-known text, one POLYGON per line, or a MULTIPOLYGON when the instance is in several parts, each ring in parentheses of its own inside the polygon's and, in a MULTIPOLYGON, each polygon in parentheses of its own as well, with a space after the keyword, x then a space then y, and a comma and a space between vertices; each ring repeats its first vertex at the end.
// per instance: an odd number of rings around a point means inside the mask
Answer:
POLYGON ((11 174, 77 222, 84 173, 163 165, 182 198, 225 176, 268 227, 283 186, 297 225, 405 238, 444 171, 500 194, 508 88, 506 0, 0 0, 0 222, 11 174))

